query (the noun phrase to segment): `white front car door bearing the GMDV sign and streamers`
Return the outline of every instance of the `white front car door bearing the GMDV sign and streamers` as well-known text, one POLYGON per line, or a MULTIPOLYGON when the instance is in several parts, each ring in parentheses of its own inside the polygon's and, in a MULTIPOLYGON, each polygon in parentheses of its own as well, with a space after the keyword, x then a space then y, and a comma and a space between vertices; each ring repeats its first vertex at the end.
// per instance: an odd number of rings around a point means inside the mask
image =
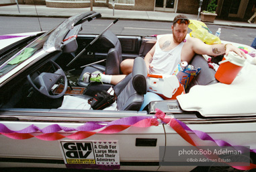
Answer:
POLYGON ((159 146, 165 146, 162 124, 138 127, 117 123, 110 126, 116 132, 92 130, 120 119, 151 117, 146 112, 2 109, 0 114, 1 167, 75 168, 110 161, 121 169, 157 171, 159 146), (85 124, 90 124, 90 129, 81 132, 79 128, 85 124))

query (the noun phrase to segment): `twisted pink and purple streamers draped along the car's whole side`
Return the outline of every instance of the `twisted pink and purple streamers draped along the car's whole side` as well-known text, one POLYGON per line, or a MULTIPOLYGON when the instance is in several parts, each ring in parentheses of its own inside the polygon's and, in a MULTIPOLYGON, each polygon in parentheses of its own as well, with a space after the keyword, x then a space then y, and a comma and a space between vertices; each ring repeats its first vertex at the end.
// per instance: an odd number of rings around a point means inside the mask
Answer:
MULTIPOLYGON (((157 118, 162 120, 163 122, 169 124, 178 134, 180 134, 187 142, 191 143, 194 146, 197 146, 194 141, 191 139, 189 134, 185 132, 185 130, 189 132, 193 132, 200 138, 201 140, 210 140, 212 142, 215 142, 218 146, 232 146, 228 142, 225 142, 224 140, 214 140, 210 135, 206 134, 205 132, 199 131, 199 130, 191 130, 186 124, 183 122, 171 118, 169 116, 166 116, 165 113, 161 112, 161 110, 157 110, 157 113, 155 114, 157 118)), ((65 126, 59 126, 58 124, 52 124, 50 126, 46 126, 45 128, 38 128, 37 126, 31 125, 27 128, 24 128, 22 130, 13 131, 9 130, 4 124, 0 124, 0 134, 3 134, 4 136, 7 136, 9 138, 21 140, 21 139, 28 139, 32 137, 36 137, 40 140, 60 140, 62 138, 71 138, 73 140, 81 140, 83 138, 88 138, 89 136, 93 136, 94 134, 114 134, 121 132, 122 130, 125 130, 129 128, 130 126, 145 128, 149 126, 158 126, 159 122, 157 118, 154 118, 154 116, 133 116, 128 118, 121 118, 119 120, 114 120, 112 122, 109 122, 107 125, 101 125, 97 122, 87 122, 83 124, 82 126, 79 126, 77 128, 69 128, 65 126), (102 129, 99 132, 93 132, 93 130, 102 129), (65 131, 65 132, 72 132, 77 131, 73 134, 70 134, 69 136, 63 136, 62 134, 58 134, 59 131, 65 131), (34 132, 42 132, 43 134, 40 134, 38 136, 32 135, 34 132)), ((104 123, 104 122, 100 122, 104 123)), ((243 148, 243 146, 241 146, 243 148)), ((250 150, 253 153, 256 153, 256 149, 250 150)), ((256 168, 256 165, 250 164, 249 167, 243 167, 243 166, 232 166, 236 169, 254 169, 256 168)))

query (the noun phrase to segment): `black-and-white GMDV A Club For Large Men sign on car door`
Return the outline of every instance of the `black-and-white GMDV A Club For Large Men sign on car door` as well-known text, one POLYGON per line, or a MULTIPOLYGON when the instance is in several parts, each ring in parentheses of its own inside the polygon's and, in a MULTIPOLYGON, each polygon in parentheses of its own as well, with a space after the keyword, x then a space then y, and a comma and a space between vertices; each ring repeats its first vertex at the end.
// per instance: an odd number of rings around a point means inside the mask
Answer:
POLYGON ((67 167, 120 166, 118 141, 60 141, 60 148, 67 167))

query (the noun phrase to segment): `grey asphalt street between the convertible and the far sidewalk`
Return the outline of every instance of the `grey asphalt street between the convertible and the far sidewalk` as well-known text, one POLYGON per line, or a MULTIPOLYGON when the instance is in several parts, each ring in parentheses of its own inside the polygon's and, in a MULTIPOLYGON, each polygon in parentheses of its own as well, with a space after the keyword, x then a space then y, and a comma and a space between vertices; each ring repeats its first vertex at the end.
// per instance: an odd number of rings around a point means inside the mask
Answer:
MULTIPOLYGON (((51 30, 58 26, 66 18, 56 17, 0 17, 0 35, 17 34, 24 32, 40 32, 42 30, 51 30)), ((95 19, 86 22, 83 25, 85 34, 99 34, 113 22, 113 19, 95 19)), ((128 19, 120 19, 110 30, 117 35, 136 35, 151 36, 155 34, 171 33, 172 22, 155 22, 155 21, 136 21, 128 19)), ((218 26, 207 25, 210 31, 215 34, 218 28, 221 28, 221 40, 237 42, 251 46, 251 42, 256 38, 255 28, 242 28, 235 26, 218 26)), ((189 30, 191 32, 191 30, 189 30)))

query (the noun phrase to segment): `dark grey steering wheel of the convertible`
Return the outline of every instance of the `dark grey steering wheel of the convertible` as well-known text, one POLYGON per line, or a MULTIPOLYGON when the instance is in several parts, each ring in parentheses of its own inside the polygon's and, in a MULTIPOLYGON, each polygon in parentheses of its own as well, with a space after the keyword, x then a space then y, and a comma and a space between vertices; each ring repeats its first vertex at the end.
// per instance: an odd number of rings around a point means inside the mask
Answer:
POLYGON ((36 77, 36 79, 34 79, 34 81, 32 81, 30 75, 28 75, 27 79, 36 91, 38 91, 42 95, 45 95, 46 97, 56 99, 62 97, 62 95, 65 94, 68 88, 68 81, 65 72, 60 68, 60 66, 52 60, 50 60, 49 62, 57 68, 54 73, 41 73, 38 77, 36 77), (64 89, 61 93, 57 95, 50 95, 50 91, 53 85, 56 84, 61 78, 64 78, 64 89))

